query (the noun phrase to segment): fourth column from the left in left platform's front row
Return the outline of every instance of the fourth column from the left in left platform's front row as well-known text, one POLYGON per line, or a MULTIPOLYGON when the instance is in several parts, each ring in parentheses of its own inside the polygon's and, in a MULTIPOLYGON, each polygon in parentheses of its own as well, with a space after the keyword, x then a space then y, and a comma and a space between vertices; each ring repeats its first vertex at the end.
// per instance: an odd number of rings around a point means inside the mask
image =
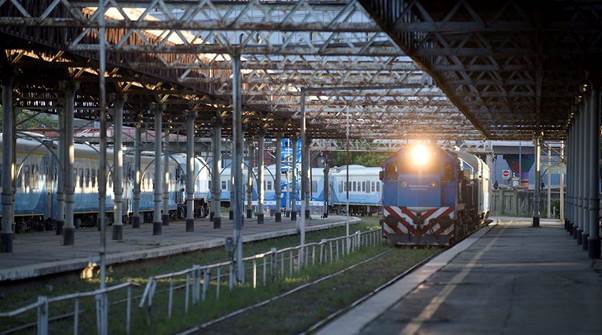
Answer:
POLYGON ((161 235, 161 197, 163 196, 163 168, 161 166, 161 139, 163 129, 164 105, 152 104, 155 113, 155 177, 153 178, 154 213, 153 213, 153 235, 161 235))

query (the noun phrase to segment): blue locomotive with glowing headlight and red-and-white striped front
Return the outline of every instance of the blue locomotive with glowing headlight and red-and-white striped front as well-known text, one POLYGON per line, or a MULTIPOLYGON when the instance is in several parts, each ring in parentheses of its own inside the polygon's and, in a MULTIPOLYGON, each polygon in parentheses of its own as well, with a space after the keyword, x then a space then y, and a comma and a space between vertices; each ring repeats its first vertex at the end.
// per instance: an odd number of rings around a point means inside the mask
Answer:
POLYGON ((383 169, 383 233, 397 245, 450 245, 489 212, 489 168, 478 157, 407 146, 383 169))

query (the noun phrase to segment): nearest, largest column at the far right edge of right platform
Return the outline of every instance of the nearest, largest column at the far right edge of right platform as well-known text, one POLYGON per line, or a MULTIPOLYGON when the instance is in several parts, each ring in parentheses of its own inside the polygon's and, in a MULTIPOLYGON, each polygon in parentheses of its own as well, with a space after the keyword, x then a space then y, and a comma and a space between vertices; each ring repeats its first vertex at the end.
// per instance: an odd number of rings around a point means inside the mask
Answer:
POLYGON ((589 256, 600 258, 600 86, 592 86, 589 103, 589 237, 587 242, 589 256))

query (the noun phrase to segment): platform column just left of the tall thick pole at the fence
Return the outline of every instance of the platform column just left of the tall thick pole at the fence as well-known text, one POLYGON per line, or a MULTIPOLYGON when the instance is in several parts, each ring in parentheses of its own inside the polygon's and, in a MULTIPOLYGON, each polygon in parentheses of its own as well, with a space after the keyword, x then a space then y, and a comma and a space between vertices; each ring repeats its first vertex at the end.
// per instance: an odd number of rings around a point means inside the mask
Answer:
POLYGON ((211 219, 213 228, 219 229, 222 226, 221 197, 222 185, 220 178, 220 161, 222 159, 222 119, 217 115, 215 126, 213 128, 213 161, 211 165, 211 219))

